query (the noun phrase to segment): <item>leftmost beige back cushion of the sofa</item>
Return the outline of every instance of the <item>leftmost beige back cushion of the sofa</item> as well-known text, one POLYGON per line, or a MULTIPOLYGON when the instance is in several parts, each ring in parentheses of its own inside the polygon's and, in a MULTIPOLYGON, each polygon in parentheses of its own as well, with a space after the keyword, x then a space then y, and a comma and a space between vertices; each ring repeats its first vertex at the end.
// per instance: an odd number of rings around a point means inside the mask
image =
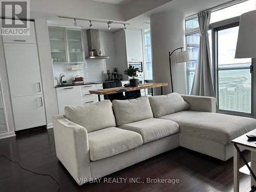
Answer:
POLYGON ((66 106, 65 116, 70 121, 86 128, 88 132, 116 126, 110 100, 82 106, 66 106))

